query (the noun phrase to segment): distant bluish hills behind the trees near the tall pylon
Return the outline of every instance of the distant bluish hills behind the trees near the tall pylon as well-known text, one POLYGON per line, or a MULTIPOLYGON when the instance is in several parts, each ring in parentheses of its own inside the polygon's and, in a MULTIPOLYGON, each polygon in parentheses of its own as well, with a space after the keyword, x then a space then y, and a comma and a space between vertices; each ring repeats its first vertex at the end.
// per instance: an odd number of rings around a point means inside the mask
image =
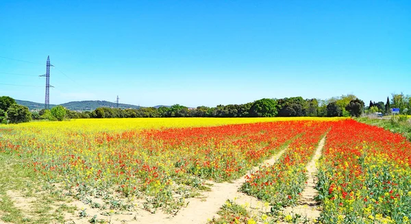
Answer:
MULTIPOLYGON (((20 105, 25 105, 29 110, 41 110, 45 108, 44 103, 35 103, 32 101, 24 101, 24 100, 18 100, 16 99, 16 103, 20 105)), ((69 103, 62 103, 60 104, 64 106, 64 108, 67 108, 69 110, 81 110, 81 111, 91 111, 95 110, 96 108, 100 107, 107 107, 107 108, 116 108, 116 103, 112 103, 109 101, 73 101, 69 103)), ((50 104, 50 108, 55 106, 54 104, 50 104)), ((131 104, 124 104, 124 103, 119 103, 119 108, 121 109, 126 109, 126 108, 133 108, 133 109, 138 109, 140 106, 138 105, 131 105, 131 104)))

